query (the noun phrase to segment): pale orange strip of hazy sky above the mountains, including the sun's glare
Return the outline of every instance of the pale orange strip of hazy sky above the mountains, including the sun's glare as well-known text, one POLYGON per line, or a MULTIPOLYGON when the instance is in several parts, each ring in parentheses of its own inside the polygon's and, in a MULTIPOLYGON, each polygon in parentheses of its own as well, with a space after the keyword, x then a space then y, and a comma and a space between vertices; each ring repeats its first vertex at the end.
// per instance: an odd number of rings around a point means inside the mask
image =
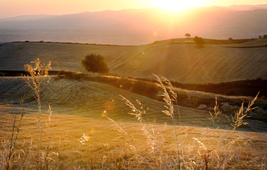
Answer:
POLYGON ((175 6, 267 4, 267 0, 0 0, 0 18, 33 14, 71 14, 84 11, 175 6))

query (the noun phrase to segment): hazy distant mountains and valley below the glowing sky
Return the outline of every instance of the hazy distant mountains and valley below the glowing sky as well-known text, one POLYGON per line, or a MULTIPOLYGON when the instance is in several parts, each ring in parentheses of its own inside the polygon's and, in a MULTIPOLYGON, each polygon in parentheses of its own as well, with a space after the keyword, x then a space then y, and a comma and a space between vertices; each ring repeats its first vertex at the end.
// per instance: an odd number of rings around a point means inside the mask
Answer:
POLYGON ((248 39, 266 34, 265 5, 197 7, 169 13, 159 8, 105 10, 68 15, 24 15, 0 19, 0 42, 53 41, 141 45, 184 37, 248 39), (248 9, 248 10, 243 10, 248 9))

